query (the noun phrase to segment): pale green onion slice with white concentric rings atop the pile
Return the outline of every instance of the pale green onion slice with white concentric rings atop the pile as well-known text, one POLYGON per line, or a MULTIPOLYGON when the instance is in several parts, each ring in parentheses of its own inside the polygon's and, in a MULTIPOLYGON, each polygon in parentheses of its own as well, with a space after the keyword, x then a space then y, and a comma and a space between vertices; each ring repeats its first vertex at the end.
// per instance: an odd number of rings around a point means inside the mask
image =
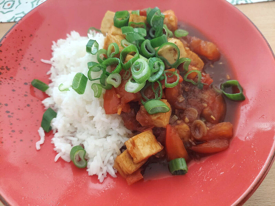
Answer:
POLYGON ((145 60, 137 59, 131 66, 131 73, 132 73, 133 79, 137 83, 141 84, 143 82, 146 82, 146 80, 148 80, 151 74, 151 70, 148 66, 148 63, 145 60))

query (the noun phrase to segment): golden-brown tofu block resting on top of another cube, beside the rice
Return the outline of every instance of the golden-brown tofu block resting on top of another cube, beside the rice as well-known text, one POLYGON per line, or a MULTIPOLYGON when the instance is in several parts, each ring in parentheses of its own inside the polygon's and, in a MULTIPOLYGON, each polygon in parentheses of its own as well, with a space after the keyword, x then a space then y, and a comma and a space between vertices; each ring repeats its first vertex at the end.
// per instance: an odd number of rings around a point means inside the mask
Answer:
POLYGON ((152 130, 147 130, 131 137, 125 142, 125 146, 134 163, 148 159, 163 149, 163 146, 156 140, 152 130))

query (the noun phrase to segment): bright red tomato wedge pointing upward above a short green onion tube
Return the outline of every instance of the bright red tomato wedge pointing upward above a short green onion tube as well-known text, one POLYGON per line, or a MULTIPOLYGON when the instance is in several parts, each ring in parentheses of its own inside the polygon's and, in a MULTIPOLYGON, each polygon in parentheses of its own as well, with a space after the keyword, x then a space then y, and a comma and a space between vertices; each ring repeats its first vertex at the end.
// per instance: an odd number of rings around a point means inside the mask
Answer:
POLYGON ((172 159, 183 157, 185 160, 188 159, 188 154, 184 147, 180 136, 175 128, 170 124, 166 127, 166 154, 167 159, 170 161, 172 159))

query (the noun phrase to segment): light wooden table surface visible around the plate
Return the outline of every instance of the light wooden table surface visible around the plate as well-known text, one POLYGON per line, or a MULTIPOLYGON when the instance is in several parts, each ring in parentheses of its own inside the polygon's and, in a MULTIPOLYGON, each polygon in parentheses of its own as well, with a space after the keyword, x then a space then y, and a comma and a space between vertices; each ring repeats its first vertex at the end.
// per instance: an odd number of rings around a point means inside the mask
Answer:
MULTIPOLYGON (((275 52, 275 1, 236 6, 262 31, 275 52)), ((0 38, 14 23, 0 23, 0 38)), ((275 206, 275 164, 266 178, 243 206, 275 206)), ((0 202, 0 206, 3 204, 0 202)))

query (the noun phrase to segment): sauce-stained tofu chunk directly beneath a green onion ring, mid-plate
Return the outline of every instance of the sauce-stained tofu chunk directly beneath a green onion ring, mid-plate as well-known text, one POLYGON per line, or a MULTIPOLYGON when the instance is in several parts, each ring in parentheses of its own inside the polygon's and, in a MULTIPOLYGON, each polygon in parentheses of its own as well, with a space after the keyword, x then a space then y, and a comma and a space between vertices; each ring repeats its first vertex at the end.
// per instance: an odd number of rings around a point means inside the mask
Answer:
POLYGON ((137 112, 136 120, 140 122, 142 126, 154 125, 156 127, 166 128, 166 125, 169 124, 172 108, 166 99, 161 99, 160 101, 164 102, 170 110, 166 113, 159 112, 156 114, 148 114, 144 106, 141 106, 140 110, 137 112))

